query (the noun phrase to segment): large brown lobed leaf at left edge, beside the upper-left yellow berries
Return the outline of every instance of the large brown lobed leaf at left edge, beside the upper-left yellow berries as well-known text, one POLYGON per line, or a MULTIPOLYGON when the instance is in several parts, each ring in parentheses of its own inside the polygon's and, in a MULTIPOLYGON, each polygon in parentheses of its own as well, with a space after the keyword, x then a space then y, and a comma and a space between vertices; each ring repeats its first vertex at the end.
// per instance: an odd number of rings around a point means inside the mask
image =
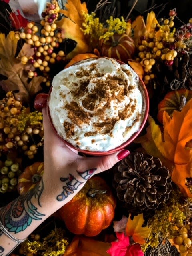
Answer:
POLYGON ((7 38, 4 34, 0 34, 0 74, 8 78, 1 80, 0 86, 5 91, 18 91, 15 92, 15 98, 22 102, 29 102, 30 98, 42 89, 40 84, 43 77, 37 76, 28 82, 28 73, 20 62, 20 58, 32 56, 34 50, 29 44, 24 44, 18 58, 15 58, 17 42, 13 31, 8 34, 7 38))

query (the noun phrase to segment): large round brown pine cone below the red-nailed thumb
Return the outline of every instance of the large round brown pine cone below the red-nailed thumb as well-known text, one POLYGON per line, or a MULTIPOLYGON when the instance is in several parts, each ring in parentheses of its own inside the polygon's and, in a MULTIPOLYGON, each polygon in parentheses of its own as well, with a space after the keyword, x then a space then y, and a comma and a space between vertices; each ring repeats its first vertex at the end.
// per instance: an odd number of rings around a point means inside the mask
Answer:
POLYGON ((158 208, 172 190, 169 170, 159 158, 142 153, 131 153, 118 163, 113 185, 122 205, 134 214, 158 208))

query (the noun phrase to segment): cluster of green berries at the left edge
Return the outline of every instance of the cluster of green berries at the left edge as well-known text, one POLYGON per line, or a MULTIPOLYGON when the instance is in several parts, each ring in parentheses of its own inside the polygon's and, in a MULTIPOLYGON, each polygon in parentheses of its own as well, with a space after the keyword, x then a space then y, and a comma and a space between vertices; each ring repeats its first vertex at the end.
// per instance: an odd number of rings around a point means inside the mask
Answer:
POLYGON ((0 193, 16 190, 18 177, 22 171, 17 162, 7 158, 5 162, 0 161, 0 193))

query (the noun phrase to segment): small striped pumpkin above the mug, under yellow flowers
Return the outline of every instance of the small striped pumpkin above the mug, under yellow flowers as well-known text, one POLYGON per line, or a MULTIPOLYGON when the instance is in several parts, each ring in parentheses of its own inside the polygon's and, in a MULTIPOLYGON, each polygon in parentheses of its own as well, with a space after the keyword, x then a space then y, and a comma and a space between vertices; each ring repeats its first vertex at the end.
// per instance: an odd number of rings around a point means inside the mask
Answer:
POLYGON ((105 41, 100 40, 100 55, 127 62, 135 52, 134 40, 127 34, 114 34, 105 41))

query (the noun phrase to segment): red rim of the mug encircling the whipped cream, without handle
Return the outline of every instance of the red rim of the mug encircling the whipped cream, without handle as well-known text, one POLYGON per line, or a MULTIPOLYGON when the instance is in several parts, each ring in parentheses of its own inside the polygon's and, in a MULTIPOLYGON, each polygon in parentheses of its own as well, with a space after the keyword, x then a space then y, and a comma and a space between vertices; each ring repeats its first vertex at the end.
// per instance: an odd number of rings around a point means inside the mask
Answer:
MULTIPOLYGON (((98 57, 98 58, 102 58, 102 57, 98 57)), ((106 58, 106 57, 105 57, 106 58)), ((108 58, 108 57, 107 57, 108 58)), ((88 59, 96 59, 96 58, 88 58, 88 59)), ((85 59, 86 60, 86 59, 85 59)), ((116 60, 116 59, 115 59, 116 60)), ((80 60, 81 61, 81 60, 80 60)), ((78 61, 78 62, 80 62, 78 61)), ((116 60, 117 62, 119 62, 120 64, 126 64, 120 60, 116 60)), ((74 64, 72 64, 72 66, 78 64, 78 62, 75 62, 74 64)), ((128 64, 126 64, 128 65, 128 64)), ((133 68, 132 68, 133 69, 133 68)), ((134 71, 135 72, 135 71, 134 71)), ((137 74, 138 75, 138 74, 137 74)), ((53 122, 52 122, 52 118, 51 118, 51 114, 50 114, 50 109, 49 109, 49 99, 50 99, 50 94, 52 92, 52 86, 50 87, 50 90, 48 92, 48 98, 47 98, 47 102, 46 102, 46 109, 47 109, 47 114, 48 114, 48 118, 50 120, 50 124, 54 130, 54 132, 56 133, 56 135, 65 143, 67 144, 70 148, 78 151, 78 152, 81 152, 81 153, 84 153, 84 154, 88 154, 88 155, 92 155, 92 156, 104 156, 104 155, 109 155, 109 154, 113 154, 115 152, 118 152, 119 150, 122 150, 124 149, 126 146, 128 146, 139 134, 140 132, 142 131, 144 125, 146 124, 146 121, 147 121, 147 118, 148 118, 148 113, 149 113, 149 95, 148 95, 148 91, 147 91, 147 88, 146 88, 146 85, 144 84, 143 80, 139 77, 139 81, 140 81, 140 86, 142 87, 142 90, 143 90, 143 94, 144 94, 144 102, 145 102, 145 111, 144 111, 144 117, 143 117, 143 120, 142 120, 142 123, 139 127, 139 130, 137 132, 134 132, 134 134, 132 134, 132 136, 130 136, 130 138, 128 138, 128 140, 126 140, 126 142, 122 143, 120 146, 117 146, 116 148, 113 148, 111 150, 108 150, 108 151, 89 151, 89 150, 82 150, 80 148, 77 148, 76 146, 73 146, 70 142, 68 142, 67 140, 65 140, 64 138, 62 138, 53 122)))

